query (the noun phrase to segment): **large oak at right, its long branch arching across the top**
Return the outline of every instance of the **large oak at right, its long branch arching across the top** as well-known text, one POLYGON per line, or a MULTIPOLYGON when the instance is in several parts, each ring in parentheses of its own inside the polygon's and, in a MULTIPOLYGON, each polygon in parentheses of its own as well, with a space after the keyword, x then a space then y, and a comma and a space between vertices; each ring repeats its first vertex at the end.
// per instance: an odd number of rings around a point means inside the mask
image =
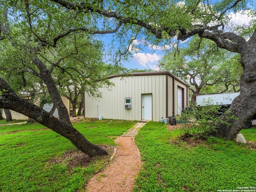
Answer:
MULTIPOLYGON (((165 40, 172 42, 173 38, 184 41, 198 35, 216 43, 219 48, 240 54, 240 64, 243 73, 240 78, 240 95, 235 98, 228 112, 222 114, 231 124, 218 123, 218 136, 233 139, 244 125, 256 114, 256 21, 253 19, 247 26, 238 26, 233 31, 227 31, 225 26, 230 22, 228 13, 244 11, 244 14, 255 16, 255 8, 250 8, 250 2, 245 0, 220 0, 209 2, 205 0, 188 0, 183 2, 169 0, 137 1, 137 0, 101 0, 94 2, 71 2, 51 0, 66 8, 93 15, 106 21, 99 28, 112 32, 142 32, 147 40, 156 42, 165 40), (211 4, 210 4, 211 3, 211 4), (246 11, 245 11, 246 10, 246 11), (110 25, 105 25, 110 24, 110 25), (246 109, 246 110, 245 110, 246 109), (230 114, 237 119, 229 119, 230 114)), ((253 4, 252 4, 253 5, 253 4)), ((85 20, 83 20, 85 21, 85 20)), ((92 24, 93 20, 90 20, 92 24)), ((72 28, 94 34, 95 28, 72 28)))

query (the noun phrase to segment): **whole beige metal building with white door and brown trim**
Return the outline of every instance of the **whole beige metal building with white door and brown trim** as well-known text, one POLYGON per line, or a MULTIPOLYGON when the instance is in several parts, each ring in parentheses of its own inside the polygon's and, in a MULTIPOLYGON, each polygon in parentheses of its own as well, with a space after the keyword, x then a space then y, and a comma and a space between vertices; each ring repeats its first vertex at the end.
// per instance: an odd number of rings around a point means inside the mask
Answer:
POLYGON ((115 86, 112 90, 100 88, 102 98, 90 98, 85 93, 86 118, 159 121, 180 114, 189 103, 189 85, 170 72, 108 78, 115 86))

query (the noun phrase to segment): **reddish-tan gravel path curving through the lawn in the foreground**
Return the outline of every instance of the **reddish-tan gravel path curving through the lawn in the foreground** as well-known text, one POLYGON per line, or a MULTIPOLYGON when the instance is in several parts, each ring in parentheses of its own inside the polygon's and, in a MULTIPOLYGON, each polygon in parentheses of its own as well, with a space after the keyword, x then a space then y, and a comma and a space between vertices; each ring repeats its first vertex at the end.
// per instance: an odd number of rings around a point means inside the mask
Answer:
POLYGON ((90 179, 88 192, 132 192, 142 161, 133 137, 118 137, 113 162, 90 179))

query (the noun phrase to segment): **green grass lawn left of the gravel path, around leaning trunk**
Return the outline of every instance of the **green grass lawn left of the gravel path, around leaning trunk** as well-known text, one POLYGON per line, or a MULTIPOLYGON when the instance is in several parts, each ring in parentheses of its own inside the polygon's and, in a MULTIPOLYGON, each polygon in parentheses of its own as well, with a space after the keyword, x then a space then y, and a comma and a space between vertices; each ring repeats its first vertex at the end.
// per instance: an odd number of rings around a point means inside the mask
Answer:
MULTIPOLYGON (((114 145, 114 138, 135 121, 102 120, 74 123, 94 144, 114 145)), ((96 158, 87 168, 70 169, 67 163, 48 163, 75 147, 69 140, 40 124, 0 126, 1 192, 76 192, 104 169, 106 158, 96 158)))

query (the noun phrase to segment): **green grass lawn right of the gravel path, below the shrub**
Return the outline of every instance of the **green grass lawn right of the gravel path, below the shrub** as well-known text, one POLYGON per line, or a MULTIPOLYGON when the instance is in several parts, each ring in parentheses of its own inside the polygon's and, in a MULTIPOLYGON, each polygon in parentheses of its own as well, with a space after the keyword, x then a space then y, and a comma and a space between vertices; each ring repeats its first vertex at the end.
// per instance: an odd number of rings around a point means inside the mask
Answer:
MULTIPOLYGON (((256 138, 256 128, 242 130, 256 138)), ((209 138, 193 145, 161 123, 148 122, 136 136, 144 162, 134 192, 217 192, 256 187, 256 151, 244 144, 209 138)), ((248 136, 248 137, 247 137, 248 136)))

